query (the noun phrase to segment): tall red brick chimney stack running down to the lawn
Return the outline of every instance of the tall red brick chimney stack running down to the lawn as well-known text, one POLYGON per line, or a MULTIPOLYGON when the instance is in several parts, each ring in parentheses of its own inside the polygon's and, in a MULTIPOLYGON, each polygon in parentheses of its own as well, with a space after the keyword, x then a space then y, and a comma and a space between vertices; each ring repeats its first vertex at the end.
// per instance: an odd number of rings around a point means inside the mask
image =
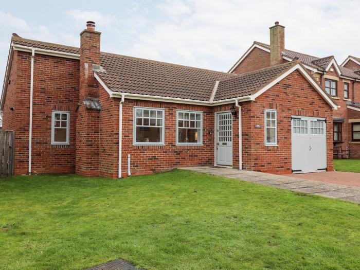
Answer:
POLYGON ((85 176, 99 175, 100 111, 89 109, 84 101, 98 98, 94 69, 100 66, 100 32, 94 22, 86 22, 80 33, 80 92, 76 118, 75 171, 85 176))

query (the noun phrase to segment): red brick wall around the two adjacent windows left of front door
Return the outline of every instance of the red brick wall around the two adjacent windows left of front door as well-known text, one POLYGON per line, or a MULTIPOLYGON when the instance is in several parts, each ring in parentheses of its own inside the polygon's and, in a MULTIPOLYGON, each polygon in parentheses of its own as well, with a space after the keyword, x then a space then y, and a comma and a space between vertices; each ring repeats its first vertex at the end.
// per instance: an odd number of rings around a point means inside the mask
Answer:
POLYGON ((214 114, 211 107, 125 99, 122 124, 122 175, 126 175, 128 169, 128 154, 131 155, 132 174, 164 171, 175 167, 213 165, 214 114), (165 146, 133 145, 134 106, 165 109, 165 146), (203 112, 203 146, 176 146, 176 110, 203 112))

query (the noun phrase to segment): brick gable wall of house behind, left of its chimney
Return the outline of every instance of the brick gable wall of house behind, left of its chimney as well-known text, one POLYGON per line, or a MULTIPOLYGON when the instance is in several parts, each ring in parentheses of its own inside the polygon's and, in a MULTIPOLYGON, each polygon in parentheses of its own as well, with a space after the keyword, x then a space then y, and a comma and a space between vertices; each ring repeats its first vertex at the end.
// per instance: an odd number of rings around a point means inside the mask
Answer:
MULTIPOLYGON (((283 60, 282 63, 287 62, 283 60)), ((232 71, 232 73, 243 74, 270 66, 270 53, 255 47, 245 59, 232 71)))

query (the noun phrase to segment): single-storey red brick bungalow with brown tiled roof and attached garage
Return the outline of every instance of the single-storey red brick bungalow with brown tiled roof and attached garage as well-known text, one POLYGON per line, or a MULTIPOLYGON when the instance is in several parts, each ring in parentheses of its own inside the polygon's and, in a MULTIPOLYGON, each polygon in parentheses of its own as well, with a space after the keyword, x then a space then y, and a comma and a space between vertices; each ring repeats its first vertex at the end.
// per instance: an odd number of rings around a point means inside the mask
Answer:
POLYGON ((271 53, 274 65, 239 75, 101 52, 93 22, 80 37, 13 34, 0 110, 15 174, 333 170, 337 104, 301 61, 271 53))

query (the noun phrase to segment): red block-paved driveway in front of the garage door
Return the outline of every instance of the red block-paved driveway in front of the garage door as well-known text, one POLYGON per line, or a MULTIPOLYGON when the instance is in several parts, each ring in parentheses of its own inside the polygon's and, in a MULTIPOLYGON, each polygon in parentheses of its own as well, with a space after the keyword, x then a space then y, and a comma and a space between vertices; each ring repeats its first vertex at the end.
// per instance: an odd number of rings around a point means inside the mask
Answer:
POLYGON ((360 188, 360 173, 356 172, 301 173, 292 177, 360 188))

